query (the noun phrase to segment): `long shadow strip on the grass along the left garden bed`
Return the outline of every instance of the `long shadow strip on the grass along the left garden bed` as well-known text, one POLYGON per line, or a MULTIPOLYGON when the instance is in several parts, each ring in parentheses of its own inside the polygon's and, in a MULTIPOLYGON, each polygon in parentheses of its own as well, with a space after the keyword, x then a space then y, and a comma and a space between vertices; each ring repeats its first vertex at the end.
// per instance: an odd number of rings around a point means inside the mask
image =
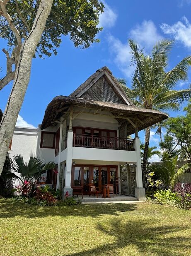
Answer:
POLYGON ((36 206, 12 199, 0 199, 0 218, 22 216, 44 218, 47 216, 98 217, 104 214, 117 216, 120 212, 135 211, 136 204, 79 204, 76 206, 36 206), (102 206, 102 207, 99 207, 102 206))

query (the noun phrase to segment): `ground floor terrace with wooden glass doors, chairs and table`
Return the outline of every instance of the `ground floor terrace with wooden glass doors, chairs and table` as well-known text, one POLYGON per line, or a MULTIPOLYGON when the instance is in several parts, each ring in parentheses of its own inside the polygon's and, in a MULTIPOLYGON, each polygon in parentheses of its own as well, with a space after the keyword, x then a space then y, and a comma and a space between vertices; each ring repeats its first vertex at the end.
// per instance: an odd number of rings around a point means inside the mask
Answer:
MULTIPOLYGON (((70 195, 82 199, 88 197, 89 200, 93 198, 112 199, 114 196, 115 198, 118 196, 118 199, 119 196, 133 196, 135 199, 137 189, 136 165, 132 163, 121 165, 112 162, 111 164, 104 164, 102 161, 92 161, 90 164, 88 161, 74 160, 70 173, 63 162, 60 164, 60 176, 57 184, 63 187, 63 196, 68 191, 70 195), (69 182, 66 180, 69 176, 67 174, 70 174, 69 182), (61 177, 63 177, 63 184, 60 184, 61 177)), ((143 193, 143 197, 139 200, 144 199, 143 193)))

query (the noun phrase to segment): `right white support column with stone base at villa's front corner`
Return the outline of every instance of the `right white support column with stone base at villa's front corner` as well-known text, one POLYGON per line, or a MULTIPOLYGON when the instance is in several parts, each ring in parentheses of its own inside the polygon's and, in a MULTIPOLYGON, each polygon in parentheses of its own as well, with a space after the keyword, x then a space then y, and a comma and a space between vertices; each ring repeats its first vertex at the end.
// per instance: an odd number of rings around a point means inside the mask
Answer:
POLYGON ((135 197, 140 201, 145 201, 145 189, 143 188, 142 181, 142 169, 141 169, 141 158, 140 158, 140 139, 135 136, 135 152, 137 155, 136 164, 136 182, 137 187, 135 188, 135 197))

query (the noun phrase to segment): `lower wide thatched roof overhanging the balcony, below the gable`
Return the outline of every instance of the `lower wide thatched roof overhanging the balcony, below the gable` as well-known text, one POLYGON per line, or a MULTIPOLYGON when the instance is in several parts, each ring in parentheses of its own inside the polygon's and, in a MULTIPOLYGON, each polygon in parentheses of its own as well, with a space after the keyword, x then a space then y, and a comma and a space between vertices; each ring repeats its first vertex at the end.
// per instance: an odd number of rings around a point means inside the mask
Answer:
POLYGON ((44 119, 41 124, 41 129, 45 129, 54 121, 59 120, 59 118, 63 116, 61 109, 64 108, 64 111, 67 112, 70 108, 70 105, 111 112, 114 118, 116 118, 118 122, 121 123, 121 125, 125 124, 125 122, 128 122, 128 135, 133 134, 135 132, 135 128, 131 122, 127 121, 127 118, 138 118, 138 131, 140 131, 168 117, 167 114, 159 111, 138 108, 125 104, 94 101, 90 99, 82 99, 79 97, 57 96, 48 104, 46 108, 44 119))

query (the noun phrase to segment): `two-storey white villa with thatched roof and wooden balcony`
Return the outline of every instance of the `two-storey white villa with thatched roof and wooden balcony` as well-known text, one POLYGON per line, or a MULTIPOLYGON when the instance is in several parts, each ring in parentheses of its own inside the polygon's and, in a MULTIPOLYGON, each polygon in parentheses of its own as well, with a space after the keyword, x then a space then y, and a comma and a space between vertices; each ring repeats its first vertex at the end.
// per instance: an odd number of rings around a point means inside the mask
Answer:
POLYGON ((135 107, 102 67, 69 96, 55 97, 37 129, 15 127, 10 156, 56 162, 58 175, 48 170, 46 183, 63 194, 89 194, 89 184, 100 190, 113 184, 114 194, 144 200, 138 132, 166 118, 135 107))

